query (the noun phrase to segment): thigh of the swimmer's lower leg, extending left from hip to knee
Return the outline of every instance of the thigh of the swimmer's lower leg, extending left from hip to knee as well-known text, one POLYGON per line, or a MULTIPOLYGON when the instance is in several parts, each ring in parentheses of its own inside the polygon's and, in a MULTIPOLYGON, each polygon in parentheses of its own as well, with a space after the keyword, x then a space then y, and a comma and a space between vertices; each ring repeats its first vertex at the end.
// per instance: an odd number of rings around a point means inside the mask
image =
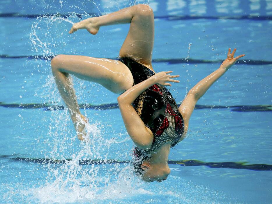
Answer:
POLYGON ((122 93, 133 85, 128 67, 118 60, 76 55, 57 55, 52 71, 68 73, 82 80, 97 82, 111 92, 122 93))

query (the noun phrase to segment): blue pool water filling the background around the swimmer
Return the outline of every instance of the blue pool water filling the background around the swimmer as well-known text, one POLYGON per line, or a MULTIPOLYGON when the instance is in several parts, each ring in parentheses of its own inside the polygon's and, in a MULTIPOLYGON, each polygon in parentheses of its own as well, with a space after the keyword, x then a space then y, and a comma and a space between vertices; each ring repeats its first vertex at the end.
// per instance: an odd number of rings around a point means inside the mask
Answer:
POLYGON ((271 19, 271 0, 1 1, 1 203, 271 203, 271 19), (77 140, 67 109, 52 110, 63 102, 50 56, 114 59, 129 28, 69 35, 72 23, 135 3, 153 8, 153 68, 181 75, 170 89, 177 103, 227 48, 246 54, 198 101, 162 183, 131 176, 133 143, 114 108, 118 95, 73 79, 79 103, 98 105, 82 109, 88 144, 77 140))

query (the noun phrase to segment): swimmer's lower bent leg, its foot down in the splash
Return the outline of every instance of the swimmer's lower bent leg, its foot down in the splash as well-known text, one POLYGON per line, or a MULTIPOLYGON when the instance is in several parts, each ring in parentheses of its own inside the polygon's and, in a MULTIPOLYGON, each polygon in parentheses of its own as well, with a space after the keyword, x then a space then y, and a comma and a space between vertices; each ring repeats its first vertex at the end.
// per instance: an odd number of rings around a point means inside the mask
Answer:
POLYGON ((71 119, 83 140, 87 122, 80 113, 79 105, 69 74, 82 80, 97 82, 114 93, 122 93, 133 85, 133 77, 126 65, 117 60, 86 56, 57 55, 51 61, 52 73, 62 99, 67 105, 71 119))

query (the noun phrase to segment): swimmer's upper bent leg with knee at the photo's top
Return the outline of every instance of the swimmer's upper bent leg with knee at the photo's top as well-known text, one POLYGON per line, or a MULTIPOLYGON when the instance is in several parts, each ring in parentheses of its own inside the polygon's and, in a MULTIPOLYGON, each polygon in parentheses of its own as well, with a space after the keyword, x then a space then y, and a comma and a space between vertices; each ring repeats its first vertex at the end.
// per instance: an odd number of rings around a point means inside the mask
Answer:
POLYGON ((107 15, 88 18, 75 23, 69 33, 87 29, 96 34, 101 26, 130 23, 128 35, 121 47, 121 57, 133 57, 151 66, 154 42, 154 15, 150 6, 137 4, 107 15))

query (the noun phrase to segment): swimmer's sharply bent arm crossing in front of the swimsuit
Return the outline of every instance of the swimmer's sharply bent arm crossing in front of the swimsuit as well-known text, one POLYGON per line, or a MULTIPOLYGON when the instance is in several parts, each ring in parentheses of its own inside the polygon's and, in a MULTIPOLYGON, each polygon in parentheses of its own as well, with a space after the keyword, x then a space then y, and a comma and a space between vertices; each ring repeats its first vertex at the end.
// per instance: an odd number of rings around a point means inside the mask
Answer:
POLYGON ((141 149, 149 149, 152 145, 154 136, 152 131, 145 126, 144 122, 131 104, 142 92, 154 84, 171 86, 169 82, 179 82, 178 80, 172 79, 178 77, 178 75, 170 76, 167 74, 171 72, 172 71, 159 72, 147 80, 131 87, 117 98, 126 130, 135 145, 141 149))

